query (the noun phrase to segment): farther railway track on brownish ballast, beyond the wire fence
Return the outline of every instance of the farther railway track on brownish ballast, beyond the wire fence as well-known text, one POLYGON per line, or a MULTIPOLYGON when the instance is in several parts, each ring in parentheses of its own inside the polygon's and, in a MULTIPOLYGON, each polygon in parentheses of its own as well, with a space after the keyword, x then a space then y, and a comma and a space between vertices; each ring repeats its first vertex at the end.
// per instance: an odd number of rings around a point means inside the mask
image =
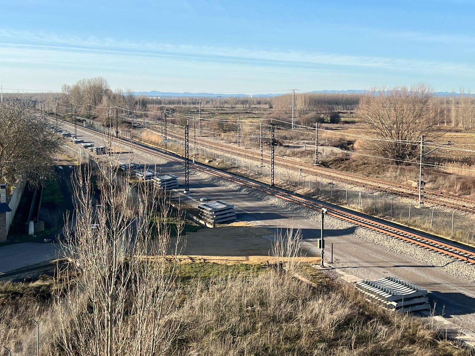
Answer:
MULTIPOLYGON (((152 132, 162 135, 161 132, 150 129, 152 132)), ((168 131, 167 136, 179 140, 183 140, 183 136, 176 134, 175 132, 168 131)), ((232 154, 237 154, 240 156, 246 156, 252 159, 258 159, 258 153, 241 149, 238 147, 230 147, 230 145, 224 145, 213 141, 206 141, 205 146, 213 147, 219 149, 223 152, 228 152, 232 154)), ((268 158, 268 155, 266 155, 268 158)), ((312 164, 299 162, 293 159, 287 159, 282 157, 276 157, 276 163, 282 166, 287 167, 288 169, 298 171, 296 167, 302 169, 303 173, 310 175, 318 175, 326 179, 331 179, 333 181, 338 181, 342 183, 351 183, 356 187, 365 187, 370 188, 376 191, 390 193, 393 195, 398 195, 400 197, 408 197, 417 199, 418 198, 418 188, 412 187, 404 184, 392 183, 378 178, 371 177, 362 177, 357 174, 336 171, 334 169, 329 169, 325 167, 316 167, 312 164)), ((445 206, 448 208, 456 209, 459 211, 464 211, 468 213, 475 214, 475 199, 467 197, 457 197, 455 195, 447 194, 444 192, 437 192, 435 190, 425 189, 425 201, 431 203, 434 206, 445 206)))

